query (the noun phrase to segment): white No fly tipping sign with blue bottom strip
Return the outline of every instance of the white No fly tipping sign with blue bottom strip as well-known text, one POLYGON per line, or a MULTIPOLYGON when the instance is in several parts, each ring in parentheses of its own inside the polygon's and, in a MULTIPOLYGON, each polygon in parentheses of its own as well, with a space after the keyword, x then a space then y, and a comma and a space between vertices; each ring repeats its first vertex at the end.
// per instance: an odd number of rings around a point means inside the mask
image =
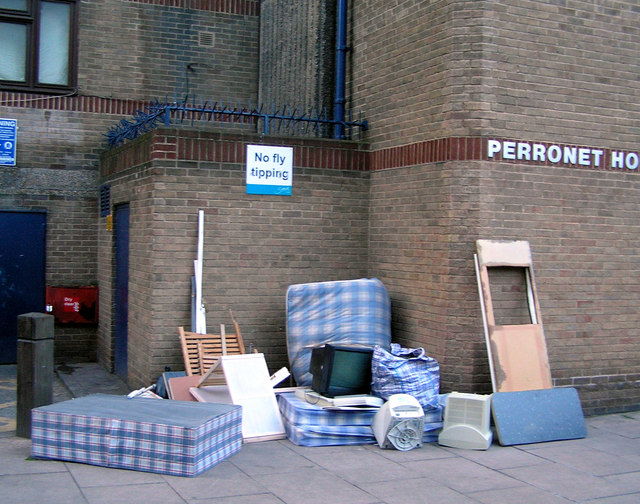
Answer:
POLYGON ((291 196, 293 147, 247 145, 247 194, 291 196))

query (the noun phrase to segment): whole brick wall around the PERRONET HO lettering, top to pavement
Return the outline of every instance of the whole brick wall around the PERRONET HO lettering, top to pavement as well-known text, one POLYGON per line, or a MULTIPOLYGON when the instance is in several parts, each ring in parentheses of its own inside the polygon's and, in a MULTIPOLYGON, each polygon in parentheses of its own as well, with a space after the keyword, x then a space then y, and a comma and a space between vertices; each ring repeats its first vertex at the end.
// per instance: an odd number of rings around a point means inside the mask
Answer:
POLYGON ((636 170, 496 164, 497 137, 638 152, 634 2, 354 2, 372 148, 369 275, 443 391, 489 391, 477 238, 531 242, 551 369, 585 412, 637 408, 636 170), (416 22, 420 20, 421 22, 416 22), (508 166, 507 166, 508 165, 508 166))

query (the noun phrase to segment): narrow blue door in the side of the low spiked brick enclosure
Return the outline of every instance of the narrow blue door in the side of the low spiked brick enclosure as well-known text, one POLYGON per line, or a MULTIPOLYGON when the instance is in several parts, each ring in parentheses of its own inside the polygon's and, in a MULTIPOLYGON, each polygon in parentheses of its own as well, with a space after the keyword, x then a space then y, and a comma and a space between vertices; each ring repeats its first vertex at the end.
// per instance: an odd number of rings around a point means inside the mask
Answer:
POLYGON ((115 373, 127 379, 127 343, 129 322, 129 205, 117 205, 114 211, 115 293, 114 362, 115 373))

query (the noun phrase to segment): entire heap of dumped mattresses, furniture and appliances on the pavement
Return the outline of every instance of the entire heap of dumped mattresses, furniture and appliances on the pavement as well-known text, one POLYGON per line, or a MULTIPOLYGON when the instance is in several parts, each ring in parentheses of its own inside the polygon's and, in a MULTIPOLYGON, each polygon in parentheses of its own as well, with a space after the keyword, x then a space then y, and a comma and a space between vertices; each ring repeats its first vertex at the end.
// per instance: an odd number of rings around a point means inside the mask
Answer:
POLYGON ((391 341, 391 301, 378 279, 292 285, 286 294, 290 369, 269 374, 240 327, 178 329, 185 371, 120 396, 32 411, 32 455, 195 476, 242 443, 303 446, 423 443, 486 450, 586 436, 573 388, 553 388, 528 242, 478 240, 474 255, 493 394, 440 394, 438 362, 391 341), (496 322, 491 268, 526 279, 529 321, 496 322), (295 386, 282 386, 292 377, 295 386))

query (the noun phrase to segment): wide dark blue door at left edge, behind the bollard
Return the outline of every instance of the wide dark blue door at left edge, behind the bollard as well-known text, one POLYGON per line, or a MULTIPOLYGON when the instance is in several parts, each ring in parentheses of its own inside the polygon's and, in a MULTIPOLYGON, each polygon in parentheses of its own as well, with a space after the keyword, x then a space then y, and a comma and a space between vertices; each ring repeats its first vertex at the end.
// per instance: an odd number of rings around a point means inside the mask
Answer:
POLYGON ((18 315, 44 311, 44 212, 0 212, 0 364, 16 362, 18 315))

